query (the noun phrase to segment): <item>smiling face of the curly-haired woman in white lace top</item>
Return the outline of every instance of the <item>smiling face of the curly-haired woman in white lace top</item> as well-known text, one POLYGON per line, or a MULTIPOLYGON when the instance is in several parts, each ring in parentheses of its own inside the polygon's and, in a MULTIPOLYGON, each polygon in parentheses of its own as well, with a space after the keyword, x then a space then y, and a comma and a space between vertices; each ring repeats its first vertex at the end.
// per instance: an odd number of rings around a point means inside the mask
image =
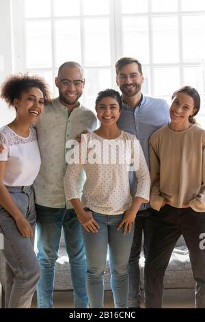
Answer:
POLYGON ((33 124, 44 110, 43 93, 39 88, 31 87, 22 92, 19 99, 14 99, 14 106, 18 119, 33 124))

